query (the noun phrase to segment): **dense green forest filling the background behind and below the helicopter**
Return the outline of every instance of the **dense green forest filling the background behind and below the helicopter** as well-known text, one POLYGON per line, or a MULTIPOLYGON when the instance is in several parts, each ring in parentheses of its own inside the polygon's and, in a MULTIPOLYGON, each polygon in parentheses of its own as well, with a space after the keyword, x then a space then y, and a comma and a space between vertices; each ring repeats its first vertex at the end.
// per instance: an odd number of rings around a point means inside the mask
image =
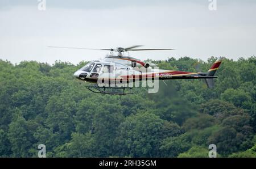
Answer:
MULTIPOLYGON (((216 60, 151 60, 160 69, 206 72, 216 60)), ((256 57, 225 58, 215 87, 160 82, 159 92, 94 94, 73 65, 0 60, 0 157, 256 157, 256 57)))

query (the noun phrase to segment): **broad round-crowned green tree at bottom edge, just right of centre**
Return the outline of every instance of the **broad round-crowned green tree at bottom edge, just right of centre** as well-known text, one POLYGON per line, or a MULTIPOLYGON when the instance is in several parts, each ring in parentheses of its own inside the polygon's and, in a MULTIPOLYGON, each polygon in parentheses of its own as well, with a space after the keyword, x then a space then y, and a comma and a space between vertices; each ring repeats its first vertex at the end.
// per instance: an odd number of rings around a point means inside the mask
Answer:
POLYGON ((141 112, 126 118, 119 126, 119 155, 156 157, 159 154, 159 133, 164 121, 153 113, 141 112))

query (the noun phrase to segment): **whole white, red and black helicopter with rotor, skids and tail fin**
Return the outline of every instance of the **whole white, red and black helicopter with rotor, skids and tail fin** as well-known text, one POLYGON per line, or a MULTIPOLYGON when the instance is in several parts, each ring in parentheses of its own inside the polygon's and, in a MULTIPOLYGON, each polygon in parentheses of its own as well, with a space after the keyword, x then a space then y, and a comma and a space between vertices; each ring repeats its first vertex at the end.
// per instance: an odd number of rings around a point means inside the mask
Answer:
MULTIPOLYGON (((124 56, 125 52, 142 51, 142 50, 174 50, 171 48, 155 48, 155 49, 138 49, 142 45, 134 45, 128 48, 110 48, 110 49, 93 49, 93 48, 73 48, 73 47, 49 47, 49 48, 66 48, 66 49, 89 49, 89 50, 109 50, 103 60, 90 61, 81 69, 77 70, 73 76, 81 81, 93 83, 86 86, 88 90, 100 94, 112 95, 127 95, 136 82, 149 81, 165 81, 171 79, 205 79, 208 88, 214 87, 214 76, 218 67, 222 62, 222 57, 219 57, 216 62, 210 67, 207 73, 163 70, 158 69, 151 62, 143 62, 137 58, 124 56), (117 52, 117 54, 113 54, 117 52)), ((165 83, 165 82, 164 82, 165 83)), ((137 83, 138 84, 138 83, 137 83)), ((167 84, 166 84, 167 85, 167 84)), ((139 87, 139 85, 135 86, 139 87)))

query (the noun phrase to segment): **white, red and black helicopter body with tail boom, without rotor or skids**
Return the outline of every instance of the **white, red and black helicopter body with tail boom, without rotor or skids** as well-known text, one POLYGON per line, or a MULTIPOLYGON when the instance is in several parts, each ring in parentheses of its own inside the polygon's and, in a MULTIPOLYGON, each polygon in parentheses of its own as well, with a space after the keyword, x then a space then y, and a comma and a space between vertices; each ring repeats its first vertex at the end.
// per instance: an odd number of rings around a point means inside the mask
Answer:
POLYGON ((135 81, 217 78, 207 73, 163 70, 158 67, 144 66, 146 63, 131 57, 106 57, 102 61, 92 61, 77 70, 74 76, 92 83, 130 83, 135 81))

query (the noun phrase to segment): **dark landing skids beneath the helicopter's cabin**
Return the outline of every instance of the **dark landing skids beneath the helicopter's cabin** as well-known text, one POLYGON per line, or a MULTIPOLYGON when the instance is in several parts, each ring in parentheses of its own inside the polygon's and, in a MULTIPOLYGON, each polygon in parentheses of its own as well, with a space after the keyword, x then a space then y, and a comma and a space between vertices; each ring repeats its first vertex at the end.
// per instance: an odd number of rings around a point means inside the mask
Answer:
POLYGON ((133 87, 99 87, 99 86, 87 86, 88 90, 97 94, 110 94, 110 95, 132 95, 131 92, 125 92, 125 90, 131 90, 133 87), (113 91, 114 90, 114 91, 113 91))

